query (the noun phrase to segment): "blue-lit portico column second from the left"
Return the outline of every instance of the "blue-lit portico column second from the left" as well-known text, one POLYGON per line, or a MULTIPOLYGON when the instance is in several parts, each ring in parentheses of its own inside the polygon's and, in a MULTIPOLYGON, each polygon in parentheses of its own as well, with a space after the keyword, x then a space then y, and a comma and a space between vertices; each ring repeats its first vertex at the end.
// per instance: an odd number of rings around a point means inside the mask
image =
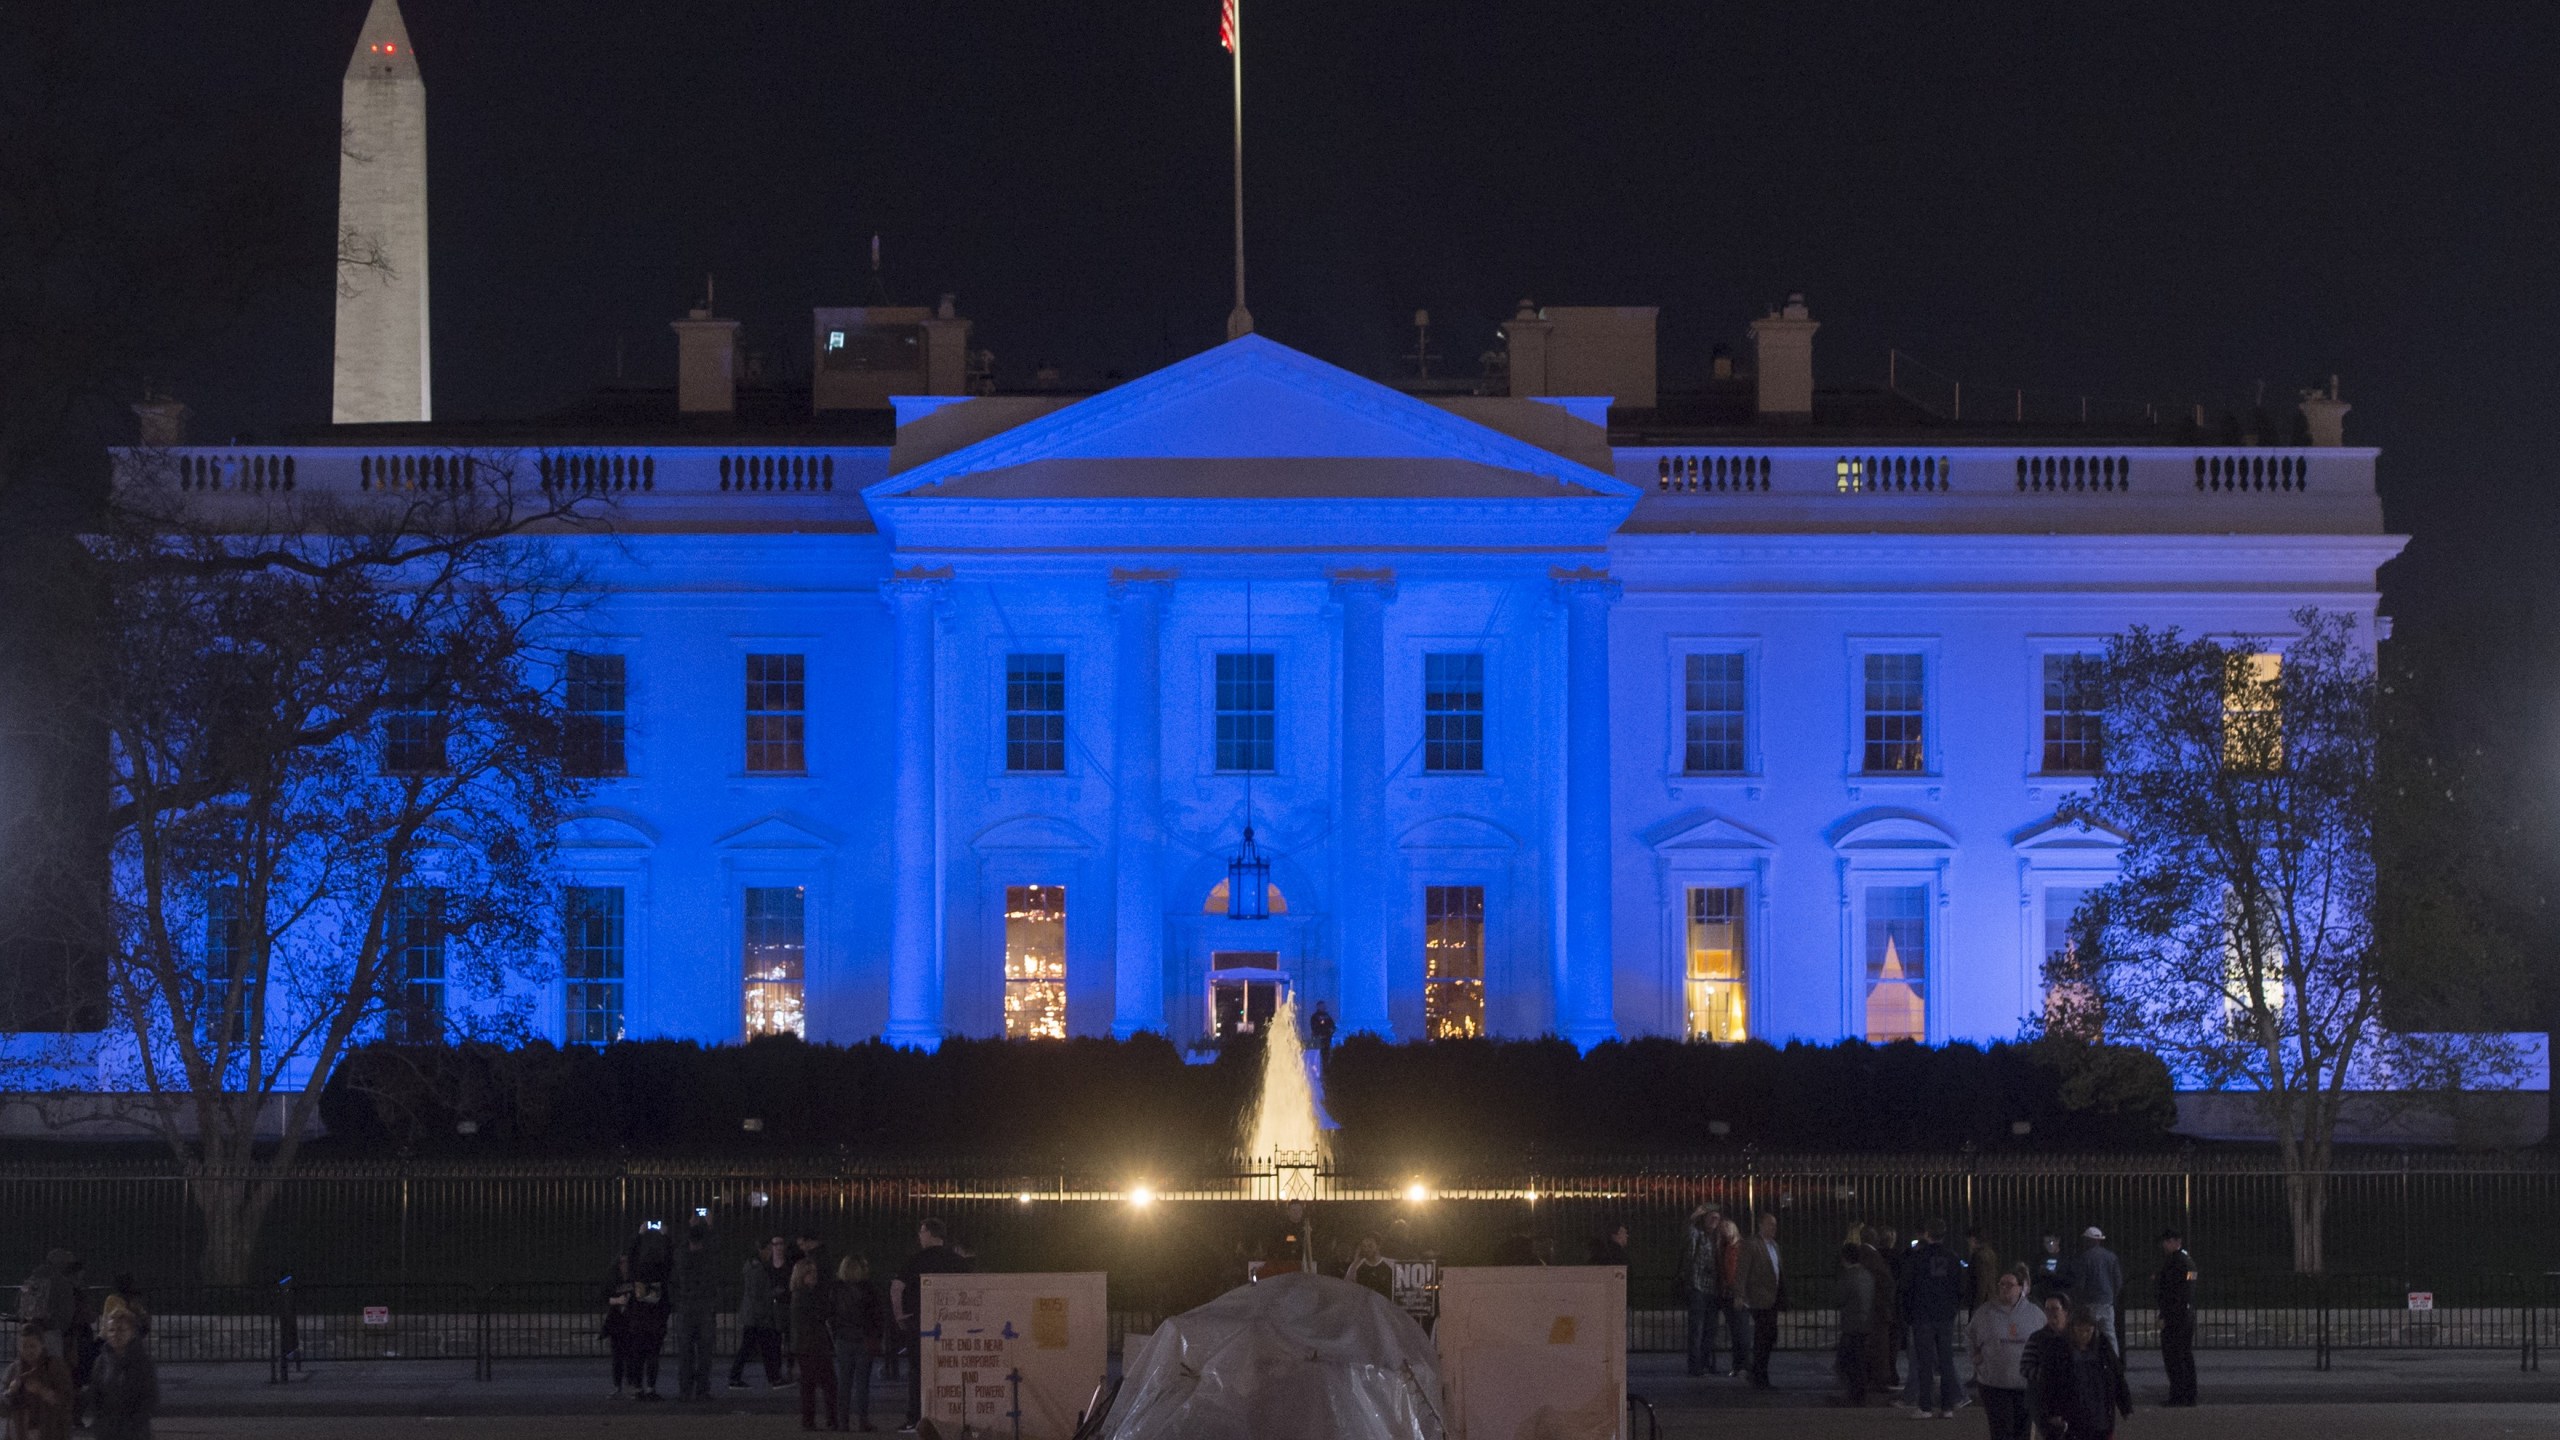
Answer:
POLYGON ((1172 571, 1111 571, 1111 1035, 1165 1030, 1165 594, 1172 571))

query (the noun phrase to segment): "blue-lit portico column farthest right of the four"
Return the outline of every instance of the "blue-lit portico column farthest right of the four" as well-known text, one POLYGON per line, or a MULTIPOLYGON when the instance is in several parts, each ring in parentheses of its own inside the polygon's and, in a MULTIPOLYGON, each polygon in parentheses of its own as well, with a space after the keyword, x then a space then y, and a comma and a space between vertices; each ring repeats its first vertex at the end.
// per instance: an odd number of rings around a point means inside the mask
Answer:
POLYGON ((1590 1051, 1618 1038, 1610 956, 1608 607, 1618 582, 1559 569, 1564 602, 1564 974, 1556 1027, 1590 1051))

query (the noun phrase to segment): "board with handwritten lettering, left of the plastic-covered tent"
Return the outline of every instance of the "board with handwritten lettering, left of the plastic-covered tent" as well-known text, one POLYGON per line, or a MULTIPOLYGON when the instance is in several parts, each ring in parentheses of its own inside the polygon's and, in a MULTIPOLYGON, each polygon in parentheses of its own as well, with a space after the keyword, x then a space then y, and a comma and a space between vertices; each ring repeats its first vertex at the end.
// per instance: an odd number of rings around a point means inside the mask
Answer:
POLYGON ((924 1276, 924 1417, 945 1435, 1070 1440, 1111 1366, 1108 1276, 924 1276))

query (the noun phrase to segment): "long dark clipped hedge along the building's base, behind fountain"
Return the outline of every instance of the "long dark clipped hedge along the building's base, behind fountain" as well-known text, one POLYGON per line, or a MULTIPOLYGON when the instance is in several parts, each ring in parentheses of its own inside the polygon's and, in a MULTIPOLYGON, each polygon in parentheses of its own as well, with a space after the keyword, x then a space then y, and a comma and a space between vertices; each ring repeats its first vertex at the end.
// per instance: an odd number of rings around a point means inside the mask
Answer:
MULTIPOLYGON (((1236 1045, 1185 1066, 1152 1035, 1019 1045, 640 1040, 371 1045, 328 1081, 340 1156, 988 1156, 1027 1168, 1219 1163, 1254 1089, 1236 1045), (760 1120, 758 1133, 745 1120, 760 1120), (474 1135, 458 1127, 471 1122, 474 1135)), ((2168 1143, 2168 1074, 2045 1045, 1347 1040, 1326 1071, 1352 1166, 1510 1168, 1539 1156, 1764 1150, 2140 1150, 2168 1143), (2010 1125, 2030 1122, 2025 1140, 2010 1125), (1723 1122, 1725 1135, 1713 1125, 1723 1122)))

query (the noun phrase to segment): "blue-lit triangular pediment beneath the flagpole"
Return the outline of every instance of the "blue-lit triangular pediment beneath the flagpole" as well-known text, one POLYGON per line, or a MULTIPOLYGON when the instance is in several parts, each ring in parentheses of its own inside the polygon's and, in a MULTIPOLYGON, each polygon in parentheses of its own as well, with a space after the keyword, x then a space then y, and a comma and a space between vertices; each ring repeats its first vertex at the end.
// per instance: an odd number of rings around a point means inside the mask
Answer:
POLYGON ((1262 336, 991 436, 970 420, 970 405, 901 428, 904 454, 865 500, 1636 497, 1603 469, 1608 438, 1597 425, 1528 430, 1572 436, 1559 446, 1587 448, 1590 459, 1577 459, 1262 336))

